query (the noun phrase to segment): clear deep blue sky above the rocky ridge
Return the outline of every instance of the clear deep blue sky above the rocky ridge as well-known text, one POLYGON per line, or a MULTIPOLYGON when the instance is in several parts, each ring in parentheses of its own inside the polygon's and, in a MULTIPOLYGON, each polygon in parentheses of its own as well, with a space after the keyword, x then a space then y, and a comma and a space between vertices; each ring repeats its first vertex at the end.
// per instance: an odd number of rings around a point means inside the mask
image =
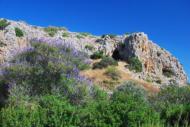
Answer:
POLYGON ((143 31, 190 75, 190 0, 0 0, 0 17, 71 31, 143 31))

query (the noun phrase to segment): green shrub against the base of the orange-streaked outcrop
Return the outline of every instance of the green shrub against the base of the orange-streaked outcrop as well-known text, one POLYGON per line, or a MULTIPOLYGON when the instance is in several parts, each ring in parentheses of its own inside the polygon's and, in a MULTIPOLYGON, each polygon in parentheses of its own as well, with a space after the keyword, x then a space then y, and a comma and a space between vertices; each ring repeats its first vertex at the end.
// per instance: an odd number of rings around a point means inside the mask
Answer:
POLYGON ((128 59, 129 70, 134 70, 135 72, 142 72, 142 63, 137 57, 131 57, 128 59))

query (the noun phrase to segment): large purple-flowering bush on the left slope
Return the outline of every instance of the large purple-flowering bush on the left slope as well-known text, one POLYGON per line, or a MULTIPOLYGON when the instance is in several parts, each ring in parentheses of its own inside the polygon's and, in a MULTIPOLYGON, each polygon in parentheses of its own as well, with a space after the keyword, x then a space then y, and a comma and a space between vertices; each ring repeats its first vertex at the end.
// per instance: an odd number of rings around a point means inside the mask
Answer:
POLYGON ((78 100, 84 99, 92 84, 79 75, 89 66, 86 59, 84 53, 61 43, 32 41, 31 48, 4 67, 1 86, 8 91, 15 85, 22 87, 29 96, 61 94, 80 103, 78 100))

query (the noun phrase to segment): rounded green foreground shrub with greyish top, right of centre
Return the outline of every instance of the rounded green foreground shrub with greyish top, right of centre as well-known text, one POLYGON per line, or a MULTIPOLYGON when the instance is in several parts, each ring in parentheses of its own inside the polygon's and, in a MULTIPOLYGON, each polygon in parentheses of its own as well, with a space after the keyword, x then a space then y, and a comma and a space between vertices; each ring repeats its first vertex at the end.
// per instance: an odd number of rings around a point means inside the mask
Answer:
POLYGON ((126 82, 112 96, 112 108, 118 112, 121 126, 139 126, 159 121, 159 114, 149 105, 146 92, 133 82, 126 82))

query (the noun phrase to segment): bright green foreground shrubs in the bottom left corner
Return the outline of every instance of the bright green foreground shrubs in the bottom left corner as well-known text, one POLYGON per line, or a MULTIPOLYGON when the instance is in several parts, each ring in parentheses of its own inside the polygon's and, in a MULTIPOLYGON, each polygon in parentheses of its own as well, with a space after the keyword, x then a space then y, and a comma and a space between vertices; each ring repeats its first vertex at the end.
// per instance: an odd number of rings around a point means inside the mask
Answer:
POLYGON ((2 127, 64 127, 79 122, 76 108, 64 98, 43 96, 36 101, 8 105, 0 111, 2 127))

